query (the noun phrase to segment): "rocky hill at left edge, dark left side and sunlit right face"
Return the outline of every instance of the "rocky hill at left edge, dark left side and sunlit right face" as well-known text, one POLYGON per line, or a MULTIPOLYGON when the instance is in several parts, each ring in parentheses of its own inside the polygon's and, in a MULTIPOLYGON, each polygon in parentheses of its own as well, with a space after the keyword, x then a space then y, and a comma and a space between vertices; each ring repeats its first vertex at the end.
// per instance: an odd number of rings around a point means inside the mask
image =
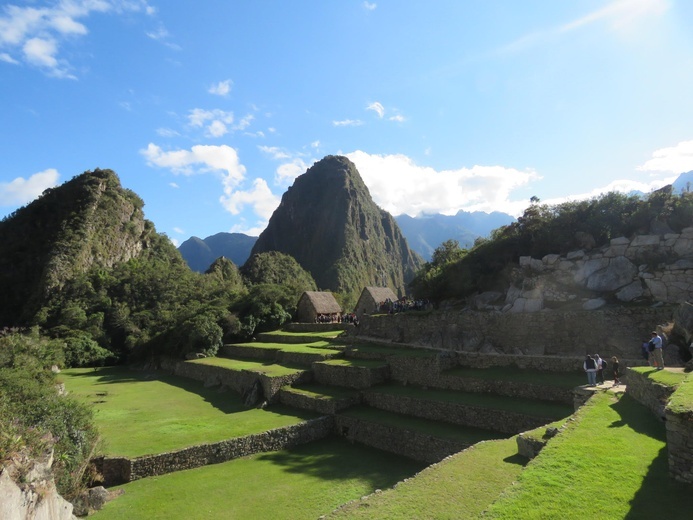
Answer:
POLYGON ((139 255, 154 233, 143 205, 114 172, 95 170, 0 222, 0 326, 26 324, 66 280, 92 266, 139 255))

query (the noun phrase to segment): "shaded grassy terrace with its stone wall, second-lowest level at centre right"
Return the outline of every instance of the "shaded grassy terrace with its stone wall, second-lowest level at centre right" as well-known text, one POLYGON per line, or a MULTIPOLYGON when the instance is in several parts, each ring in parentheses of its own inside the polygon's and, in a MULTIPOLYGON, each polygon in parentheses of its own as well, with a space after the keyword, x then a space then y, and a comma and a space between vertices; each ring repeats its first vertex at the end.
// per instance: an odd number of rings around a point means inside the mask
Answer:
POLYGON ((380 410, 474 426, 507 435, 537 428, 567 417, 573 411, 570 405, 536 399, 396 384, 365 390, 363 402, 380 410))

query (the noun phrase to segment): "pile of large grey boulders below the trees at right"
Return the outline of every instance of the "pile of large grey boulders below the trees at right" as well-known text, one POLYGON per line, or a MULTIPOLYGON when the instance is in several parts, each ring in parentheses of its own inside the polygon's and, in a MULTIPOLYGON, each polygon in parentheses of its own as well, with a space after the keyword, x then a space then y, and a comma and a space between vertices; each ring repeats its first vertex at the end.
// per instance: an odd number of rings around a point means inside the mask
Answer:
POLYGON ((693 227, 614 238, 565 256, 523 256, 513 278, 505 295, 485 293, 473 305, 525 313, 565 305, 595 310, 609 302, 686 302, 693 299, 693 227))

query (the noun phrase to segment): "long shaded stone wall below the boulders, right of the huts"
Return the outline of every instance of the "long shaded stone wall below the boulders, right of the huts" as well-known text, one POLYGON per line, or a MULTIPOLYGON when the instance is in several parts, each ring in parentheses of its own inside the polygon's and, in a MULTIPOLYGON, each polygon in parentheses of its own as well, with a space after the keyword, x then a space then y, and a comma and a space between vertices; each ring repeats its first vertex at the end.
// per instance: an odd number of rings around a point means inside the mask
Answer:
POLYGON ((668 307, 617 307, 533 313, 451 310, 419 314, 364 315, 351 336, 464 353, 637 360, 640 345, 658 324, 671 321, 668 307))

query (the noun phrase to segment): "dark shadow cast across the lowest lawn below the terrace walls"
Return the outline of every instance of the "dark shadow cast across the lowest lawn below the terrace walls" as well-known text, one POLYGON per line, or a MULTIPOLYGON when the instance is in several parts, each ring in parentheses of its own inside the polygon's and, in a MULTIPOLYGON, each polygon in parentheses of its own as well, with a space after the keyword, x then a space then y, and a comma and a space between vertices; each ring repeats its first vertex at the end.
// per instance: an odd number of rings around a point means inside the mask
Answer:
POLYGON ((309 474, 322 480, 367 480, 374 489, 411 477, 427 465, 332 436, 288 451, 264 453, 258 460, 281 466, 286 473, 309 474))

